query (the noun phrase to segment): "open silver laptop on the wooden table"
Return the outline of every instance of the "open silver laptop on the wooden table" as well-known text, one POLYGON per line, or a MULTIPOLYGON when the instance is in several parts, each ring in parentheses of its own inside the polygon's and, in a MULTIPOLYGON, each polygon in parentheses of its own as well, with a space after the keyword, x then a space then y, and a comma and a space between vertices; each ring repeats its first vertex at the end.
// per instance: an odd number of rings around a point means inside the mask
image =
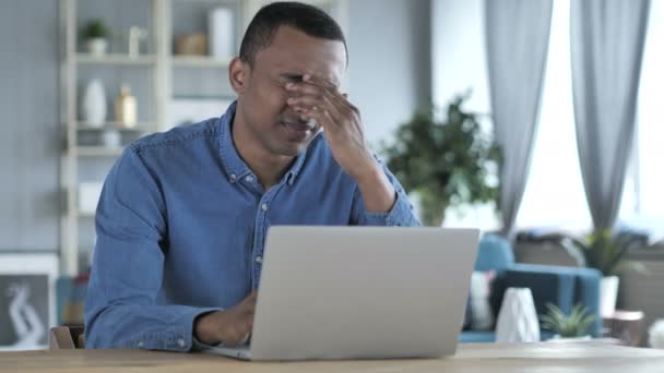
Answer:
POLYGON ((204 352, 253 361, 454 354, 478 236, 273 226, 250 344, 204 352))

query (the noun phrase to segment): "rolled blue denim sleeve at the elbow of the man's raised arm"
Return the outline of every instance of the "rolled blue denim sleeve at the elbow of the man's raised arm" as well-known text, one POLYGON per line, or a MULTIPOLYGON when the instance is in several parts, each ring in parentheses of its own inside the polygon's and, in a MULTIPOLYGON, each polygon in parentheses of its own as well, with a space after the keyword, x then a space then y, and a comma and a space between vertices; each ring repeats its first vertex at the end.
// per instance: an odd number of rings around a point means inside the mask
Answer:
POLYGON ((408 196, 404 191, 399 180, 394 177, 394 175, 388 169, 388 167, 376 157, 376 160, 382 167, 382 170, 386 172, 388 180, 394 188, 396 193, 396 200, 394 201, 394 205, 392 209, 388 213, 370 213, 367 210, 364 200, 361 197, 361 192, 359 188, 356 185, 355 195, 353 196, 353 210, 351 216, 352 225, 359 226, 386 226, 386 227, 418 227, 419 219, 413 213, 413 204, 408 201, 408 196))

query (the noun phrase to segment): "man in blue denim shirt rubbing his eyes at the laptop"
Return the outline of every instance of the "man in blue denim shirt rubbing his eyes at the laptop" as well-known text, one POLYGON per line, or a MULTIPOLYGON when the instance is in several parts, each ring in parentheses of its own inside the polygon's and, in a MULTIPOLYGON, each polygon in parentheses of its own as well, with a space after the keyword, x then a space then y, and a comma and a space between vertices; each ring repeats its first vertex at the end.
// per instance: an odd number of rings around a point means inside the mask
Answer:
POLYGON ((418 225, 339 93, 346 63, 329 15, 273 3, 228 68, 223 117, 128 147, 97 208, 86 347, 241 344, 271 225, 418 225))

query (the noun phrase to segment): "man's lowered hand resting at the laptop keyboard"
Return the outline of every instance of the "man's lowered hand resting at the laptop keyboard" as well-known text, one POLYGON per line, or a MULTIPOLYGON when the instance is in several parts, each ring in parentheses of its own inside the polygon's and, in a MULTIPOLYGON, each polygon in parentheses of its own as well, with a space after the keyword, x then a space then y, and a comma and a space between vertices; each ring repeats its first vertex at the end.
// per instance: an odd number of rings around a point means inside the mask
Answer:
POLYGON ((236 306, 199 316, 193 324, 193 336, 205 345, 234 347, 245 341, 253 327, 256 299, 253 291, 236 306))

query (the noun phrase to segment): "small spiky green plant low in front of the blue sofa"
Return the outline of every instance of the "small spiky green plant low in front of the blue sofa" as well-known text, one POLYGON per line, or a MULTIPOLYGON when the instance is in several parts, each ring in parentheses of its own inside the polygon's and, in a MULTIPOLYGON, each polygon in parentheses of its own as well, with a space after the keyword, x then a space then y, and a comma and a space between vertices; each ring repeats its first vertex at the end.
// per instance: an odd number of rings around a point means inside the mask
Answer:
POLYGON ((589 334, 589 326, 595 321, 588 309, 581 303, 572 308, 572 312, 566 315, 557 305, 546 303, 547 313, 541 315, 542 327, 549 329, 560 337, 582 337, 589 334))

